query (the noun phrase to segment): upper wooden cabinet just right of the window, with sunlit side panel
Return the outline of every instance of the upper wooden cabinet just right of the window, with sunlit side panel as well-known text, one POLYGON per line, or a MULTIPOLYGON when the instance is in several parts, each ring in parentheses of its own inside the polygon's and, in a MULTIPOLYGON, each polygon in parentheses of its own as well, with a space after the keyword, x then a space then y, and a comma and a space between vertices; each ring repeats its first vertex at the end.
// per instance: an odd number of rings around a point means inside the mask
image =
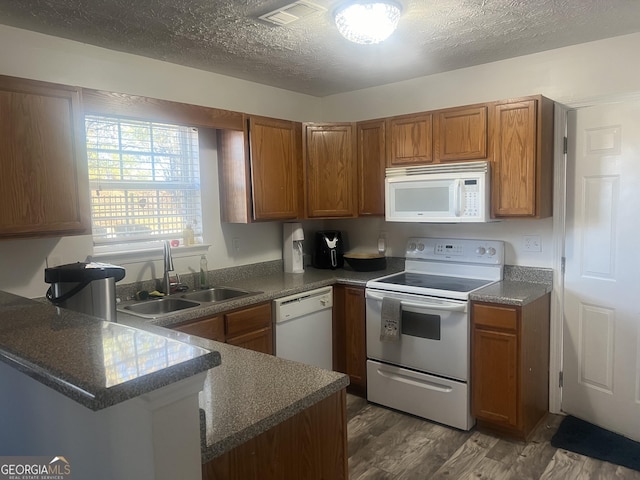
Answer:
POLYGON ((219 130, 223 222, 301 216, 301 124, 249 116, 246 131, 219 130))

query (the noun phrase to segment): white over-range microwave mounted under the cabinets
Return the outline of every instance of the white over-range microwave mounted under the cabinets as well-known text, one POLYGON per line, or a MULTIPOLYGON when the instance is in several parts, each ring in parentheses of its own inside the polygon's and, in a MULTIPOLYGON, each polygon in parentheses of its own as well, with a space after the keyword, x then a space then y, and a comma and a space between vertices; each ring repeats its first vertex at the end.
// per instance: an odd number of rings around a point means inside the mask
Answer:
POLYGON ((491 221, 489 162, 387 168, 388 222, 491 221))

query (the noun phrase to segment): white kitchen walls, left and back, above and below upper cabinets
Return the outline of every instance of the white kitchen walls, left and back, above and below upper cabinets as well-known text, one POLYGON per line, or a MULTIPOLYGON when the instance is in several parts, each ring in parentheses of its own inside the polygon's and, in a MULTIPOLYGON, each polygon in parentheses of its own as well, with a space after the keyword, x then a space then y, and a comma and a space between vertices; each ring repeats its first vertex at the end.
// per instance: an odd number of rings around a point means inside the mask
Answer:
MULTIPOLYGON (((135 55, 0 26, 0 74, 194 103, 291 120, 352 121, 541 93, 560 102, 615 96, 640 90, 637 46, 640 34, 567 47, 454 72, 319 99, 231 77, 180 67, 135 55)), ((211 170, 217 179, 215 151, 211 170)), ((205 228, 213 246, 209 268, 250 264, 281 257, 281 226, 221 225, 217 180, 204 191, 205 228), (233 249, 240 239, 240 251, 233 249)), ((551 266, 550 220, 505 221, 488 225, 385 224, 380 219, 305 222, 305 233, 325 227, 349 233, 352 247, 367 248, 378 231, 388 232, 389 254, 402 255, 410 235, 468 236, 506 240, 507 262, 551 266), (539 234, 543 251, 523 252, 524 233, 539 234)), ((305 242, 308 249, 309 241, 305 242)), ((375 248, 375 243, 371 243, 375 248)), ((43 295, 45 258, 56 264, 84 260, 90 237, 16 240, 0 243, 0 290, 27 297, 43 295)), ((197 267, 179 263, 179 272, 197 267)), ((129 279, 151 271, 126 265, 129 279)), ((156 271, 159 266, 155 265, 156 271)), ((150 277, 149 277, 150 278, 150 277)))

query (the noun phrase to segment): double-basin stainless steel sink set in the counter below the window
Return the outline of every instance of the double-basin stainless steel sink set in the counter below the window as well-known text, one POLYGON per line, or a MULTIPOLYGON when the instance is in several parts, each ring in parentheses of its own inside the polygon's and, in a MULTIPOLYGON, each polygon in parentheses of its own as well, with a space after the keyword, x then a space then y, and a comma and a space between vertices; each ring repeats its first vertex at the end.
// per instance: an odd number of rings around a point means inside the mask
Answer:
POLYGON ((158 299, 127 302, 119 305, 118 310, 143 318, 161 318, 181 310, 199 307, 203 303, 220 303, 258 293, 261 292, 250 292, 230 287, 212 287, 158 299))

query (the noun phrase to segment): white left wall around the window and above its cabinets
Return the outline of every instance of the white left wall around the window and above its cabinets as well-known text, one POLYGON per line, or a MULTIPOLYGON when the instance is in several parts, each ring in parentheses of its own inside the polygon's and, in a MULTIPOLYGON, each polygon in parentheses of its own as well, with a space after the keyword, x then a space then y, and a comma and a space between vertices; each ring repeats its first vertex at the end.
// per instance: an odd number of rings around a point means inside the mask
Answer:
MULTIPOLYGON (((0 25, 0 74, 31 78, 258 115, 308 120, 320 117, 321 99, 166 62, 72 42, 0 25)), ((203 204, 209 268, 281 258, 279 224, 221 225, 215 150, 203 158, 203 204), (210 166, 210 168, 208 168, 210 166), (240 239, 240 250, 232 248, 240 239)), ((49 265, 84 261, 92 254, 90 236, 0 242, 0 290, 43 296, 45 259, 49 265)), ((198 268, 199 256, 176 261, 179 273, 198 268)), ((122 263, 123 282, 153 278, 160 261, 122 263)))

